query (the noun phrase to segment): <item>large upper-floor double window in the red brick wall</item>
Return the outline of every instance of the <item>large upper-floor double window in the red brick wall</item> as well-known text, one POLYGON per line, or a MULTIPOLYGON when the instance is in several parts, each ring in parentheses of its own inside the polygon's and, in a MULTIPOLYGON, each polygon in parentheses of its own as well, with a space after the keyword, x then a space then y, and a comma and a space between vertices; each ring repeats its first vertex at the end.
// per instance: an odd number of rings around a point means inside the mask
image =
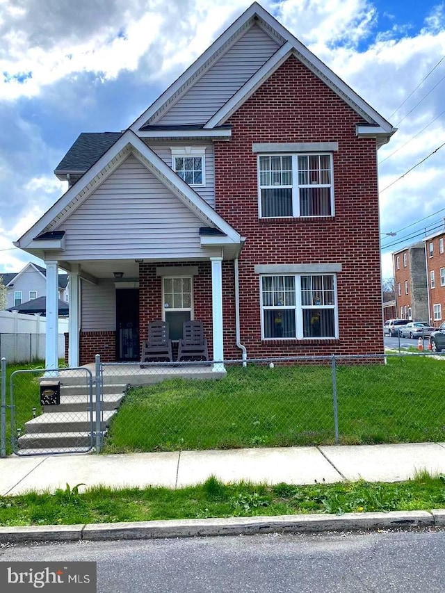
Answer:
POLYGON ((332 216, 331 154, 258 157, 260 218, 332 216))

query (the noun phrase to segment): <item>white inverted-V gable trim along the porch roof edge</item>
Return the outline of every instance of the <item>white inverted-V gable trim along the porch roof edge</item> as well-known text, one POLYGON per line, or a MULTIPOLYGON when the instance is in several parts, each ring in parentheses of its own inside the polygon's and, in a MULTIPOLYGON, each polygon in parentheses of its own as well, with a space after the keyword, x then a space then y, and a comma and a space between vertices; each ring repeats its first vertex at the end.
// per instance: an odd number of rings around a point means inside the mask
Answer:
POLYGON ((101 156, 83 177, 60 197, 51 208, 19 238, 14 244, 22 249, 29 248, 33 239, 40 235, 47 227, 54 230, 61 222, 68 218, 73 209, 77 209, 92 193, 98 184, 103 181, 124 161, 127 156, 133 153, 160 181, 162 181, 174 193, 181 202, 191 209, 200 220, 206 224, 209 222, 225 233, 234 243, 240 242, 239 234, 213 210, 207 202, 186 182, 179 177, 170 167, 157 156, 152 149, 147 147, 143 140, 132 131, 127 130, 113 144, 108 151, 101 156), (81 184, 79 188, 79 184, 81 184))

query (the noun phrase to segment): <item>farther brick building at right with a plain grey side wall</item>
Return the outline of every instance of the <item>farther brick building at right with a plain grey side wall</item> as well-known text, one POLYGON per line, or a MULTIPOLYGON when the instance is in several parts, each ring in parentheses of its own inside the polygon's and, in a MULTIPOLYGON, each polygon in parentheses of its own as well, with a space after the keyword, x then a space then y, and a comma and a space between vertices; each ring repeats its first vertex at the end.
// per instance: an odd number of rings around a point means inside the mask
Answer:
POLYGON ((426 281, 425 248, 414 243, 394 252, 394 288, 396 317, 413 321, 430 321, 426 281))

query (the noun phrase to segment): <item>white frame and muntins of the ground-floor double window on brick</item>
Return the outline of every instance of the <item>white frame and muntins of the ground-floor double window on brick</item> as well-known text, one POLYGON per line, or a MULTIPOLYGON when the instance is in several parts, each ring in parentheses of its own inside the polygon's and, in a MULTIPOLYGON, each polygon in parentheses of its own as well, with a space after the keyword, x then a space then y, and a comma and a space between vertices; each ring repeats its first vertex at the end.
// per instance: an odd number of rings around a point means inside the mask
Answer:
MULTIPOLYGON (((305 309, 307 309, 308 307, 304 307, 305 309)), ((269 341, 277 341, 277 340, 283 340, 283 341, 298 341, 298 340, 304 340, 304 341, 314 341, 314 340, 337 340, 339 339, 339 303, 338 303, 338 297, 337 297, 337 274, 332 274, 332 273, 323 273, 323 272, 319 272, 319 273, 300 273, 300 274, 262 274, 259 276, 259 311, 260 311, 260 321, 261 321, 261 340, 264 340, 266 342, 269 341), (272 309, 275 311, 282 311, 284 309, 294 309, 295 311, 295 316, 296 316, 296 320, 295 320, 295 330, 296 330, 296 336, 294 338, 284 338, 284 337, 274 337, 274 338, 266 338, 264 336, 264 316, 263 316, 263 281, 262 279, 264 277, 271 277, 271 276, 291 276, 294 278, 294 283, 295 283, 295 305, 293 307, 288 307, 288 306, 283 306, 283 307, 267 307, 267 309, 272 309), (332 276, 334 279, 334 299, 335 299, 335 304, 333 307, 327 307, 324 306, 320 307, 322 309, 334 309, 334 327, 335 327, 335 336, 329 336, 329 337, 323 337, 323 336, 309 336, 309 337, 305 337, 303 336, 303 316, 302 316, 302 311, 303 311, 303 306, 301 304, 301 282, 300 282, 300 278, 302 276, 332 276)))

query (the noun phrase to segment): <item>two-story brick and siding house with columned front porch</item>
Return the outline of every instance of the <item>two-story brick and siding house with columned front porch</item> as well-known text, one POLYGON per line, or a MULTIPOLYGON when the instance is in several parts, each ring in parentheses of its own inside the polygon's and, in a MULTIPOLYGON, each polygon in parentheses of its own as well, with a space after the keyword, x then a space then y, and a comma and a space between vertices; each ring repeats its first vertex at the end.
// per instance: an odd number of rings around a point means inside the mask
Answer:
POLYGON ((172 338, 202 320, 216 361, 382 352, 363 324, 382 319, 394 131, 252 4, 126 131, 79 136, 55 171, 70 188, 15 243, 47 301, 70 274, 70 365, 129 359, 124 332, 138 346, 155 319, 172 338))

